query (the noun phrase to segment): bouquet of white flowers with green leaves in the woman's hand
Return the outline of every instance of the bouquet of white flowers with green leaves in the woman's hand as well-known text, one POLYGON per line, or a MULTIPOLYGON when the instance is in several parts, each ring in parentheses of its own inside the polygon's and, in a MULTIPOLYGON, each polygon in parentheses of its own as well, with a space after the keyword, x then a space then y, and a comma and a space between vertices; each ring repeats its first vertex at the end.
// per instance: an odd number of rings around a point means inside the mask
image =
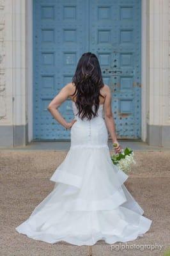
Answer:
MULTIPOLYGON (((116 147, 117 145, 114 145, 116 147)), ((134 159, 134 151, 131 148, 125 148, 121 150, 121 153, 115 154, 113 152, 112 156, 112 163, 116 164, 118 168, 120 168, 123 172, 127 173, 130 171, 130 166, 132 163, 136 163, 134 159)))

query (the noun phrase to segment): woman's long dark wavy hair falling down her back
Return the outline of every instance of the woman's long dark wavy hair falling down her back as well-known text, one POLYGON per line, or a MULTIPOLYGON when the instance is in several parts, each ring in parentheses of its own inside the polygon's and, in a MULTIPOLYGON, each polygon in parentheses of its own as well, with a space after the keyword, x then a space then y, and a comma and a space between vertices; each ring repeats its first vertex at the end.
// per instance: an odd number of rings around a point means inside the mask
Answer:
POLYGON ((91 120, 92 117, 97 116, 100 102, 99 96, 104 97, 100 93, 100 88, 104 86, 104 81, 100 64, 95 54, 91 52, 82 54, 72 78, 72 83, 75 84, 75 92, 72 96, 76 96, 77 115, 82 120, 84 117, 91 120), (93 105, 95 106, 94 111, 93 105))

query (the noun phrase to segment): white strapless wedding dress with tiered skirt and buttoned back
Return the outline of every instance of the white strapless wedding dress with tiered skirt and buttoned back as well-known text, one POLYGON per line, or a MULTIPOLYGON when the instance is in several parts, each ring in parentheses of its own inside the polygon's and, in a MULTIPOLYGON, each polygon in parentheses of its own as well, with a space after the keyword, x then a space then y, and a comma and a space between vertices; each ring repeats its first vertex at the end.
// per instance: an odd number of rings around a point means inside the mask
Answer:
POLYGON ((50 177, 54 188, 15 229, 47 243, 66 241, 79 246, 143 236, 152 221, 143 216, 123 184, 128 175, 111 161, 103 104, 91 120, 76 116, 73 101, 72 107, 77 122, 70 131, 70 150, 50 177))

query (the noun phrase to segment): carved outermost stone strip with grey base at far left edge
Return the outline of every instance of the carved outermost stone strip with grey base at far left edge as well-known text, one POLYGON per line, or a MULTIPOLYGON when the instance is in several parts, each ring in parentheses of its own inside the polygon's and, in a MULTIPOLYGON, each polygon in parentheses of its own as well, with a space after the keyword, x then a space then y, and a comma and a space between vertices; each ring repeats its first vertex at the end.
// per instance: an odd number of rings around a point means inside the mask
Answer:
MULTIPOLYGON (((12 115, 12 86, 6 63, 10 54, 7 55, 8 34, 7 26, 11 26, 4 0, 0 1, 0 145, 13 145, 13 115, 12 115)), ((10 49, 9 49, 10 50, 10 49)))

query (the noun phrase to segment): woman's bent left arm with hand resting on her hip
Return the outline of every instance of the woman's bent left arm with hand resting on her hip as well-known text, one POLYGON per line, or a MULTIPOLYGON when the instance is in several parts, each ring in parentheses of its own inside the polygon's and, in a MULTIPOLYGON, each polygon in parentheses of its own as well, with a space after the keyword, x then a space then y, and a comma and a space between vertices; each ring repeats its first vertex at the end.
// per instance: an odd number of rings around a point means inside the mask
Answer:
POLYGON ((52 116, 59 122, 59 124, 63 125, 66 129, 70 129, 72 125, 76 122, 76 120, 72 120, 71 123, 66 122, 65 118, 59 113, 59 106, 65 102, 66 99, 72 94, 72 84, 66 84, 61 91, 54 97, 54 99, 50 102, 47 107, 48 111, 52 116))

